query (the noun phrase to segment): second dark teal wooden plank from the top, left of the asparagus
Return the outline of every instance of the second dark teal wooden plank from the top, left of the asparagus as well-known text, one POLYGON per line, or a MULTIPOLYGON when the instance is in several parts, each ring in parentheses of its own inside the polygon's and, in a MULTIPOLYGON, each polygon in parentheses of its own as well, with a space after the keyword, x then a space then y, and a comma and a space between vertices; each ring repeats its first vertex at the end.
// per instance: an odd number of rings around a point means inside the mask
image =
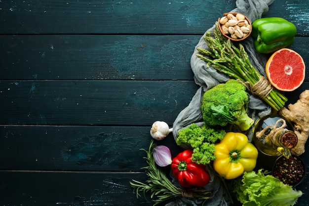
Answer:
POLYGON ((1 79, 193 80, 197 35, 2 35, 1 79))

